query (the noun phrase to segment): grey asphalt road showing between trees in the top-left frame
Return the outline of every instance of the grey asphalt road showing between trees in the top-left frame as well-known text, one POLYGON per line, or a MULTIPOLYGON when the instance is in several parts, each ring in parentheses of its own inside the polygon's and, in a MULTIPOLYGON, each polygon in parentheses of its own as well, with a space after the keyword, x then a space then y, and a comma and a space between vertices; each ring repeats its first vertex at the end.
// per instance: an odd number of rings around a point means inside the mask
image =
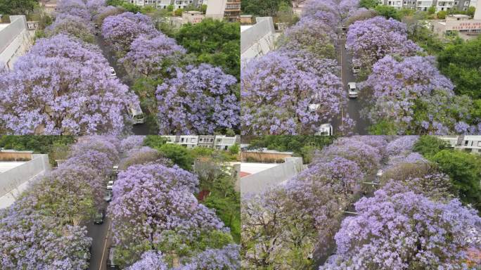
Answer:
MULTIPOLYGON (((124 67, 122 65, 117 65, 117 59, 115 58, 114 53, 108 49, 108 46, 107 44, 105 44, 105 41, 103 40, 101 34, 96 35, 96 41, 97 45, 102 50, 103 56, 107 58, 108 63, 112 68, 114 68, 115 73, 117 73, 117 77, 120 79, 121 82, 131 88, 133 83, 132 80, 130 80, 129 76, 127 76, 127 72, 124 70, 124 67)), ((132 127, 132 132, 134 132, 135 135, 150 134, 147 124, 134 124, 134 126, 132 127)))

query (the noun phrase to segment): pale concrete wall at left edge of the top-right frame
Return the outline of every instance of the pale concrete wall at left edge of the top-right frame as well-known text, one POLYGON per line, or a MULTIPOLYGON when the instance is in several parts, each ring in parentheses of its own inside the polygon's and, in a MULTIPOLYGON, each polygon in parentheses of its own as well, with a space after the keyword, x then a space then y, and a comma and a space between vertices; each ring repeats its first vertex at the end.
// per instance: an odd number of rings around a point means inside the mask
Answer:
POLYGON ((255 19, 255 25, 241 32, 241 68, 275 48, 277 34, 272 17, 255 19))

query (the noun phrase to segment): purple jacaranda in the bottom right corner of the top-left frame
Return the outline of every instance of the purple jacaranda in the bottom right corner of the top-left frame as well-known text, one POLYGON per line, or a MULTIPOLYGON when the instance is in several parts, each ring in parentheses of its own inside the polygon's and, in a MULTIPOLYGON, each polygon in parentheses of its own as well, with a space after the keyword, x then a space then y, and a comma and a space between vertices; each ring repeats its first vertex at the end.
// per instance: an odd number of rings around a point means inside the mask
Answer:
POLYGON ((214 134, 237 129, 236 78, 208 64, 177 70, 157 88, 160 134, 214 134))

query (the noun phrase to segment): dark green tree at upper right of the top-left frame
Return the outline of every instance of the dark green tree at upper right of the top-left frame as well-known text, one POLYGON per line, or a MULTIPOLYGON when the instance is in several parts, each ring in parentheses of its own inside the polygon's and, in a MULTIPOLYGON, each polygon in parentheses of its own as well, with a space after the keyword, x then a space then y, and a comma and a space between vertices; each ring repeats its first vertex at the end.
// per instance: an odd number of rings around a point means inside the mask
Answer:
POLYGON ((175 34, 177 43, 197 56, 198 63, 220 66, 224 72, 241 76, 241 26, 207 18, 183 25, 175 34))

